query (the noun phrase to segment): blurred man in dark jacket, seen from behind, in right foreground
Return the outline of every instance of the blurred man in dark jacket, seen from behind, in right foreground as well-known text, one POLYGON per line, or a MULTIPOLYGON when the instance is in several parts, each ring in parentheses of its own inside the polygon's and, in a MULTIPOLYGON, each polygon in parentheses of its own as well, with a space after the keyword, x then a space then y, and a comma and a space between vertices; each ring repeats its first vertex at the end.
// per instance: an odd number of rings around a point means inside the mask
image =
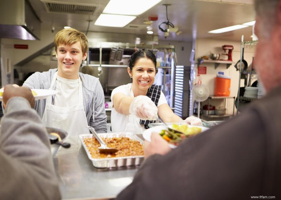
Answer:
POLYGON ((152 134, 148 158, 117 199, 281 198, 281 0, 255 8, 255 69, 266 97, 172 151, 152 134))

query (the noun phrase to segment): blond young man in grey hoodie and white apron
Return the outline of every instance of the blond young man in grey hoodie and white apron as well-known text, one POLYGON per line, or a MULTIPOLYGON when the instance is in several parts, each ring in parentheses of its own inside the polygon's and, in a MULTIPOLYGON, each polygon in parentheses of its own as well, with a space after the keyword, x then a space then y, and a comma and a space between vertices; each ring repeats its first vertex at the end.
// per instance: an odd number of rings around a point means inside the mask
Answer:
POLYGON ((54 38, 58 68, 35 72, 23 84, 31 89, 50 89, 58 93, 35 102, 34 109, 46 126, 66 130, 70 136, 107 132, 104 92, 96 77, 79 72, 87 58, 88 41, 84 33, 63 29, 54 38))

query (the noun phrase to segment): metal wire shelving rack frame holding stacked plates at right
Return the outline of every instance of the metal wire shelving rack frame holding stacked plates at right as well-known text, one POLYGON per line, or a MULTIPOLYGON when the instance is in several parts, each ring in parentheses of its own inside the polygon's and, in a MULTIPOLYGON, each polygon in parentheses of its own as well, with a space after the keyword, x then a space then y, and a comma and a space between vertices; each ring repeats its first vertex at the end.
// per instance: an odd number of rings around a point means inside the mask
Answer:
MULTIPOLYGON (((254 98, 246 98, 246 97, 243 97, 243 96, 239 96, 240 94, 240 80, 241 80, 241 74, 252 74, 252 73, 255 73, 253 71, 243 71, 241 70, 241 67, 242 67, 242 50, 243 50, 243 46, 245 45, 250 45, 250 47, 252 45, 256 45, 257 44, 257 40, 254 40, 254 41, 243 41, 244 40, 244 35, 241 36, 241 56, 240 56, 240 66, 239 66, 239 86, 238 86, 238 95, 237 95, 237 112, 236 114, 238 114, 239 112, 239 99, 241 100, 246 100, 246 101, 252 101, 252 100, 255 100, 254 98)), ((245 86, 246 87, 246 86, 245 86)))

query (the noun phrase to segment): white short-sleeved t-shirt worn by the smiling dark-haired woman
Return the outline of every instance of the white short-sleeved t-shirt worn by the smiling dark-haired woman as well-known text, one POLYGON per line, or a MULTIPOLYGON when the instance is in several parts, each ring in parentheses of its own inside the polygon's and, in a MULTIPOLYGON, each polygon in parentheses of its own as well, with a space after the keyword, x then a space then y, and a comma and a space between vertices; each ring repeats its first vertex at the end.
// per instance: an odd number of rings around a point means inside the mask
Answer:
MULTIPOLYGON (((113 102, 112 99, 113 99, 114 94, 119 93, 119 92, 125 94, 126 96, 134 97, 134 93, 132 91, 132 84, 129 83, 127 85, 119 86, 112 91, 111 102, 113 102)), ((167 104, 167 100, 165 99, 165 96, 164 96, 163 92, 161 91, 157 107, 161 106, 162 104, 167 104)), ((128 123, 128 118, 129 118, 129 115, 120 114, 114 108, 112 108, 111 109, 111 129, 112 129, 112 132, 123 132, 126 128, 127 123, 128 123)), ((139 122, 140 122, 140 119, 136 120, 135 123, 139 124, 139 122)), ((136 124, 136 125, 138 125, 138 124, 136 124)))

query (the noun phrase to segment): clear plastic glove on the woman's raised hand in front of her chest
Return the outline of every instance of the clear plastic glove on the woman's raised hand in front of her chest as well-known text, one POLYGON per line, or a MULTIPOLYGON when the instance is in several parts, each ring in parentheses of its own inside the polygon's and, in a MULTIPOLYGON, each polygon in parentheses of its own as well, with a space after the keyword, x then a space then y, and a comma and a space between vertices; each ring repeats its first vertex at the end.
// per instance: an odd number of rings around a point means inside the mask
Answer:
POLYGON ((137 96, 132 101, 129 112, 141 120, 156 120, 158 119, 158 108, 148 96, 137 96))

